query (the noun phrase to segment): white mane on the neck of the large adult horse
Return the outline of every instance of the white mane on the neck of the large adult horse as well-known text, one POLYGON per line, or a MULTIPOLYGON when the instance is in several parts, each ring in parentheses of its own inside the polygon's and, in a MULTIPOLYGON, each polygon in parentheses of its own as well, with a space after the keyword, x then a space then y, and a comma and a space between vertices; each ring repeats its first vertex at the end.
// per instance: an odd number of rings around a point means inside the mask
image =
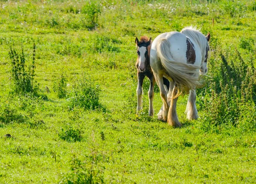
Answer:
POLYGON ((200 46, 202 52, 206 50, 206 47, 209 49, 209 43, 206 40, 205 36, 200 32, 200 29, 197 29, 195 26, 185 27, 180 31, 182 34, 194 40, 200 46))

